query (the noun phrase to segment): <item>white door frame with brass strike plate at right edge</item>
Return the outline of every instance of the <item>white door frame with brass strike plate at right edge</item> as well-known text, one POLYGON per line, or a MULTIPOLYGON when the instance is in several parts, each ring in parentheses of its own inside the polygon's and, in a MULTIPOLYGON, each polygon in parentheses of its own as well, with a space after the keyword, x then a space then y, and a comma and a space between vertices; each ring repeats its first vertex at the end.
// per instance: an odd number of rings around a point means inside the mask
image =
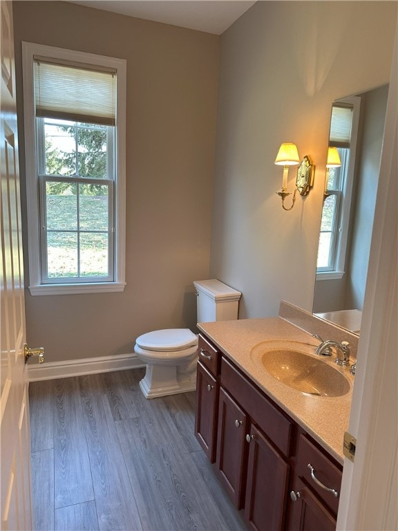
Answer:
POLYGON ((348 430, 338 530, 398 529, 398 26, 388 90, 375 225, 348 430))

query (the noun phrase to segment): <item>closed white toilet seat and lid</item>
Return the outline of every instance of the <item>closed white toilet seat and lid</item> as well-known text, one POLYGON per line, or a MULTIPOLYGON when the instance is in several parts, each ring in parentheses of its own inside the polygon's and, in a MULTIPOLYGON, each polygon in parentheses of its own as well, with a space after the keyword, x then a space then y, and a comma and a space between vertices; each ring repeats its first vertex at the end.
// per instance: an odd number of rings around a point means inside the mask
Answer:
POLYGON ((135 344, 140 350, 169 353, 166 357, 175 357, 178 351, 198 346, 198 336, 189 328, 169 328, 142 334, 135 339, 135 344))

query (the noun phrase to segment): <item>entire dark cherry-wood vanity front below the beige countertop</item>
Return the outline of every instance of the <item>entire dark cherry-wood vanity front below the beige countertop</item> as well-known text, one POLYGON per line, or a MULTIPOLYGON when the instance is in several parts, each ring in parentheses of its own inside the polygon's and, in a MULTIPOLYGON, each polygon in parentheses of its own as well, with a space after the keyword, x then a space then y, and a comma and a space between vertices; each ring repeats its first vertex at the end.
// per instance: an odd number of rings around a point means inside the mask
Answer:
POLYGON ((196 437, 248 528, 335 530, 341 465, 203 335, 199 348, 196 437))

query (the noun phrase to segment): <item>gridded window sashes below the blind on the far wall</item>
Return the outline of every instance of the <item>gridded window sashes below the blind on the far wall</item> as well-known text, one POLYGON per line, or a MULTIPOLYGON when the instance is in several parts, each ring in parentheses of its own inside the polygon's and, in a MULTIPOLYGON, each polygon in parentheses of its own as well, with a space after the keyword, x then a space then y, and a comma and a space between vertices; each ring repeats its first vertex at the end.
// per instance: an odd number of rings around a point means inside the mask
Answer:
POLYGON ((41 281, 113 281, 114 127, 36 122, 41 281))

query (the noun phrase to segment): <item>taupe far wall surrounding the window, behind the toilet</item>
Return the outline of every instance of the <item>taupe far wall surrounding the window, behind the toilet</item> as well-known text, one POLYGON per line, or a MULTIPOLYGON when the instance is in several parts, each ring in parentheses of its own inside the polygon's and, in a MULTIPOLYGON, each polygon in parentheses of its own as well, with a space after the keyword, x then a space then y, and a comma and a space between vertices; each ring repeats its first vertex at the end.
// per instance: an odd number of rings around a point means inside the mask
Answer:
POLYGON ((44 346, 47 362, 73 360, 131 353, 155 328, 195 327, 192 281, 209 276, 219 37, 65 2, 13 8, 20 126, 21 41, 127 60, 126 288, 26 290, 28 344, 44 346))

